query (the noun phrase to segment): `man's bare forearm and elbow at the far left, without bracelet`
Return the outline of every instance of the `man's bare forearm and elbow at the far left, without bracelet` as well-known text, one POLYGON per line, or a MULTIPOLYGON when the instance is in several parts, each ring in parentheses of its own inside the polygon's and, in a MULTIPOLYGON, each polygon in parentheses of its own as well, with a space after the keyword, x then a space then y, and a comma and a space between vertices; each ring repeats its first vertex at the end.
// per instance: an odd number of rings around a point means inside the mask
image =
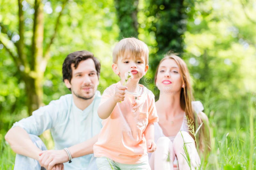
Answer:
POLYGON ((12 150, 20 155, 38 160, 41 149, 31 141, 28 133, 19 126, 11 128, 5 135, 5 140, 12 150))

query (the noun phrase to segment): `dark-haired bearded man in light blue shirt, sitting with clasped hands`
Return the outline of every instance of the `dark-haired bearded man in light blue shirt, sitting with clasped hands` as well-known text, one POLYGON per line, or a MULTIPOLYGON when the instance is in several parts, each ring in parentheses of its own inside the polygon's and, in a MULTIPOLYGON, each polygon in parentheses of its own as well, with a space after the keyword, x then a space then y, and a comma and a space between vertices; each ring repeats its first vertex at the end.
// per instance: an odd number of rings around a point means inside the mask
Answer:
POLYGON ((5 140, 17 153, 14 170, 41 169, 41 166, 62 169, 61 162, 70 159, 71 163, 64 163, 65 170, 95 169, 92 146, 102 127, 97 114, 100 62, 88 51, 76 51, 64 60, 62 74, 71 94, 35 110, 32 116, 13 124, 5 135, 5 140), (62 156, 60 164, 54 163, 55 152, 42 152, 46 147, 37 136, 47 129, 51 131, 56 153, 62 156))

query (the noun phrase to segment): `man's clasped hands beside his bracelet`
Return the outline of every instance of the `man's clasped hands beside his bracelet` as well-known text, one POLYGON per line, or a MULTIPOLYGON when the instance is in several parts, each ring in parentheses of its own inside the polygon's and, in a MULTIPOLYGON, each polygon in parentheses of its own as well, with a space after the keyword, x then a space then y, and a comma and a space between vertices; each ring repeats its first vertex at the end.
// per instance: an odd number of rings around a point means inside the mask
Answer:
POLYGON ((48 170, 54 168, 60 170, 62 168, 61 164, 68 161, 68 154, 64 149, 42 151, 39 153, 38 161, 41 166, 48 170))

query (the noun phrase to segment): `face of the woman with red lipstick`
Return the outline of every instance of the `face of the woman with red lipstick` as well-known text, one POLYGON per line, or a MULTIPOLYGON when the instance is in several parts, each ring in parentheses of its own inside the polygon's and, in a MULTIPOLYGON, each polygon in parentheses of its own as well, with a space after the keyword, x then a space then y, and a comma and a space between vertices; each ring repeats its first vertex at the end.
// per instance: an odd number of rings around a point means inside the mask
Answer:
POLYGON ((182 86, 180 68, 173 59, 163 60, 158 68, 156 86, 160 92, 176 94, 182 86))

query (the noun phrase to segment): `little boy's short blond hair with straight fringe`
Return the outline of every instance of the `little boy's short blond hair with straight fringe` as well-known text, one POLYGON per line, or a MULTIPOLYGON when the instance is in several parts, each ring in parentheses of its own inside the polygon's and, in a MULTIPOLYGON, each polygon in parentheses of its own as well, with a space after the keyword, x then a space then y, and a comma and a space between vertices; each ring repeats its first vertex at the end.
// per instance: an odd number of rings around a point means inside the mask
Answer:
POLYGON ((148 46, 136 38, 125 38, 120 40, 113 50, 113 63, 117 63, 118 58, 131 55, 136 58, 145 57, 146 65, 148 64, 148 46))

